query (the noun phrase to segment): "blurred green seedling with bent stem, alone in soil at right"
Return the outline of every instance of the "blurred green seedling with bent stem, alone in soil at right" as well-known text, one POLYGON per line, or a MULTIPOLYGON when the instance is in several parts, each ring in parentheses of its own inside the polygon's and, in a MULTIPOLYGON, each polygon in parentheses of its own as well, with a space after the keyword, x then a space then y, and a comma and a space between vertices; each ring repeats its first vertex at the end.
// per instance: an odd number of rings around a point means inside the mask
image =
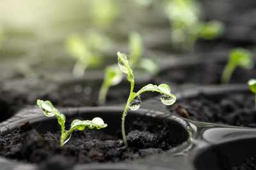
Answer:
POLYGON ((237 67, 241 67, 243 69, 252 69, 253 66, 252 52, 244 48, 234 48, 230 50, 228 62, 221 76, 221 83, 228 83, 232 73, 237 67))

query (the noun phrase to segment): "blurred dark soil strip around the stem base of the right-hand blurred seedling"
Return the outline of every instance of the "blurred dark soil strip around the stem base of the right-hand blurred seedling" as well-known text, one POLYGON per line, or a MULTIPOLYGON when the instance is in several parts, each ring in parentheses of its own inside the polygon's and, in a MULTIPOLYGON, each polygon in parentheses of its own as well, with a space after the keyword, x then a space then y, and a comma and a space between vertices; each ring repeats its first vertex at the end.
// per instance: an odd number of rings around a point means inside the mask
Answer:
MULTIPOLYGON (((172 67, 163 71, 154 79, 157 81, 167 81, 177 85, 194 83, 197 85, 220 84, 221 74, 225 67, 225 62, 205 62, 203 64, 193 64, 189 66, 172 67)), ((250 78, 255 78, 256 69, 242 69, 238 67, 230 79, 230 83, 247 83, 250 78)))

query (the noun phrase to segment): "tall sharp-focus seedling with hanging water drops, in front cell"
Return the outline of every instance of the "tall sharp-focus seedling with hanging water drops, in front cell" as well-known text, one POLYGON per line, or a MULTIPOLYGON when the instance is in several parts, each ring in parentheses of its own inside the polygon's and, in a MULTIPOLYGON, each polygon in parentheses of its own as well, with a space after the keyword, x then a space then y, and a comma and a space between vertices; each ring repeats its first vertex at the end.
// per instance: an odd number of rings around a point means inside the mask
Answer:
POLYGON ((141 104, 141 99, 140 99, 140 94, 142 94, 143 92, 147 92, 147 91, 152 91, 152 92, 159 92, 161 94, 161 101, 163 104, 166 105, 172 105, 173 103, 175 103, 176 101, 176 96, 174 96, 171 93, 171 89, 168 85, 166 84, 161 84, 161 85, 152 85, 152 84, 148 84, 144 87, 142 87, 138 92, 133 92, 134 89, 134 76, 132 73, 132 69, 129 66, 129 57, 127 55, 125 55, 124 53, 117 53, 118 56, 118 66, 120 68, 120 70, 127 74, 127 80, 131 82, 131 90, 130 90, 130 95, 129 98, 127 100, 127 104, 125 106, 124 109, 124 113, 122 116, 122 136, 124 139, 124 143, 125 146, 128 146, 127 143, 127 139, 125 136, 125 116, 127 115, 127 110, 138 110, 138 108, 140 108, 140 104, 141 104))

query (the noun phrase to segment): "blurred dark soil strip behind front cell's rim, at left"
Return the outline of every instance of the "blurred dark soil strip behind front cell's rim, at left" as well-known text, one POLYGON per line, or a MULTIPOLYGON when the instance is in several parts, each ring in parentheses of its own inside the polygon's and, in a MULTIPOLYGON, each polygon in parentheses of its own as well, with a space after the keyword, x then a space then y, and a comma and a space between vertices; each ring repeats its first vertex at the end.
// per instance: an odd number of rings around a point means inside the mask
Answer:
MULTIPOLYGON (((137 91, 143 85, 135 85, 137 91)), ((35 105, 37 99, 49 100, 54 106, 83 107, 100 106, 98 93, 100 83, 86 81, 60 85, 47 80, 18 79, 6 81, 0 85, 0 122, 12 117, 20 108, 35 105)), ((109 89, 106 104, 124 104, 129 97, 129 83, 121 83, 109 89)), ((147 99, 156 94, 146 93, 142 97, 147 99)))

